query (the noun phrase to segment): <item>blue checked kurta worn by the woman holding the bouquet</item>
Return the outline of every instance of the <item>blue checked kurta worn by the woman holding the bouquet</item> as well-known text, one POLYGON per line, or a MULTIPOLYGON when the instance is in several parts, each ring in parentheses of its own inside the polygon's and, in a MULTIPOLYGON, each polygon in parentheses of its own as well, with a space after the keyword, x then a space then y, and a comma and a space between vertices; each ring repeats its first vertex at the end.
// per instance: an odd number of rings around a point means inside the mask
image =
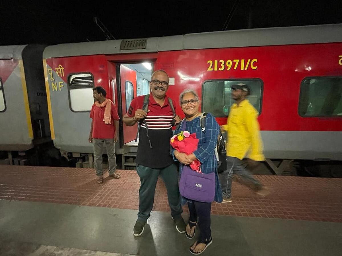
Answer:
MULTIPOLYGON (((194 118, 191 121, 186 121, 185 130, 190 133, 196 133, 196 138, 199 139, 197 150, 194 152, 197 159, 201 162, 201 171, 202 173, 211 173, 215 172, 216 177, 216 189, 215 189, 215 202, 222 202, 222 189, 219 181, 219 176, 217 173, 218 162, 215 156, 214 149, 216 147, 216 143, 218 140, 220 126, 216 122, 215 118, 208 113, 206 120, 206 130, 202 132, 201 124, 200 124, 200 116, 194 118)), ((184 122, 184 120, 182 121, 184 122)), ((182 124, 175 130, 175 134, 180 133, 182 130, 182 124)), ((177 161, 174 157, 174 149, 171 150, 171 155, 173 159, 177 161)), ((182 173, 182 164, 180 164, 179 175, 182 173)), ((185 204, 190 201, 181 196, 181 203, 185 204)))

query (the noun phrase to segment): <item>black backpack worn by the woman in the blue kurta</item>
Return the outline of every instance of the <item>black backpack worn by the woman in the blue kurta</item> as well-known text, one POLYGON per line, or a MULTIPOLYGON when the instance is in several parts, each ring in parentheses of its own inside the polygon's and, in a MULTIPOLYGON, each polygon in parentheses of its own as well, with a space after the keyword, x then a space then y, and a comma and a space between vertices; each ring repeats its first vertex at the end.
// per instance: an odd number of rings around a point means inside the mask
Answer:
MULTIPOLYGON (((208 113, 202 113, 201 118, 200 118, 200 125, 201 125, 201 129, 202 132, 206 133, 206 122, 207 122, 207 114, 208 113)), ((184 120, 184 119, 183 119, 184 120)), ((183 122, 182 120, 182 122, 183 122)), ((179 127, 181 126, 182 122, 177 126, 177 129, 179 129, 179 127)), ((224 170, 227 169, 227 158, 226 158, 226 147, 225 147, 225 139, 222 136, 222 133, 220 131, 219 137, 218 137, 218 141, 216 143, 216 147, 215 147, 215 156, 216 159, 219 163, 219 167, 217 169, 218 173, 222 173, 224 172, 224 170)))

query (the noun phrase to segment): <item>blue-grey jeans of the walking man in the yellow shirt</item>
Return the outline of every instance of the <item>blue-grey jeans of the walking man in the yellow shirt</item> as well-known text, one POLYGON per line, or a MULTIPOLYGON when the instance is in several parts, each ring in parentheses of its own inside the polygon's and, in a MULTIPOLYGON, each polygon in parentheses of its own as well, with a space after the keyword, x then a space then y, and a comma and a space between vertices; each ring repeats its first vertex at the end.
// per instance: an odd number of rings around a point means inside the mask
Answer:
POLYGON ((247 170, 247 163, 237 157, 227 156, 227 169, 219 174, 223 198, 232 197, 233 174, 238 175, 244 182, 254 185, 257 190, 262 188, 260 181, 254 179, 252 173, 247 170))

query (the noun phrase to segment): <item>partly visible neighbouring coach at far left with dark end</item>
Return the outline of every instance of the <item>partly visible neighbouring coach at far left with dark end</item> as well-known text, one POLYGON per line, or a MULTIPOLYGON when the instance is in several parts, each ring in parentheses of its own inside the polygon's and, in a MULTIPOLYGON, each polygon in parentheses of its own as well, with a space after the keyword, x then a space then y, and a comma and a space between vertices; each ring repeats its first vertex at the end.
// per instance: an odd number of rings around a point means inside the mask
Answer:
POLYGON ((40 154, 49 151, 53 145, 42 66, 45 47, 0 46, 2 164, 49 164, 43 162, 45 158, 40 154), (12 153, 17 153, 19 157, 12 158, 12 153))

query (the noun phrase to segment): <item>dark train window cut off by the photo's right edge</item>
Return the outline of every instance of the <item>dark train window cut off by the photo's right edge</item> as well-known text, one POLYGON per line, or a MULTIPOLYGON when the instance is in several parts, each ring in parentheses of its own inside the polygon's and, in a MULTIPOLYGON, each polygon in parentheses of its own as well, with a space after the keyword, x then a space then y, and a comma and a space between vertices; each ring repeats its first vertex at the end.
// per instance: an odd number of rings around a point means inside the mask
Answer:
POLYGON ((298 114, 342 116, 342 77, 306 77, 301 83, 298 114))

